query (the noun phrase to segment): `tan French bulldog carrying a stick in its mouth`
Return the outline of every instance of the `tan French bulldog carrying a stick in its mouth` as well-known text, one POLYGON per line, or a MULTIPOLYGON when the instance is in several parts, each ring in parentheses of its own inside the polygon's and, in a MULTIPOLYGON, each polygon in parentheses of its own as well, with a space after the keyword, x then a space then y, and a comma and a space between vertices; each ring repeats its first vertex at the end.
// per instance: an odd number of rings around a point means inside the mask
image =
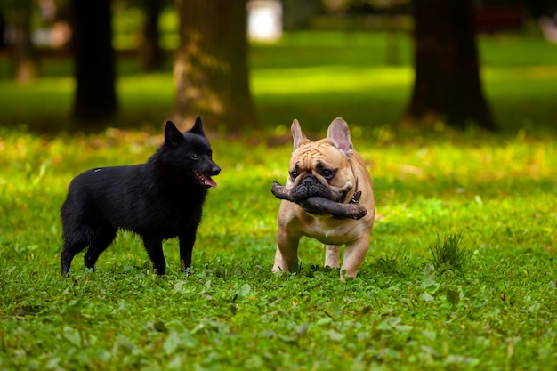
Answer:
MULTIPOLYGON (((369 248, 375 203, 371 176, 358 152, 353 149, 348 124, 337 117, 327 130, 327 138, 310 141, 297 120, 292 123, 294 150, 286 184, 290 199, 278 210, 278 247, 273 271, 298 270, 298 242, 303 236, 326 244, 325 266, 339 268, 344 247, 341 279, 356 277, 369 248), (348 204, 359 202, 367 214, 360 219, 335 219, 330 214, 310 214, 303 199, 327 198, 348 204)), ((311 210, 310 210, 311 211, 311 210)))

